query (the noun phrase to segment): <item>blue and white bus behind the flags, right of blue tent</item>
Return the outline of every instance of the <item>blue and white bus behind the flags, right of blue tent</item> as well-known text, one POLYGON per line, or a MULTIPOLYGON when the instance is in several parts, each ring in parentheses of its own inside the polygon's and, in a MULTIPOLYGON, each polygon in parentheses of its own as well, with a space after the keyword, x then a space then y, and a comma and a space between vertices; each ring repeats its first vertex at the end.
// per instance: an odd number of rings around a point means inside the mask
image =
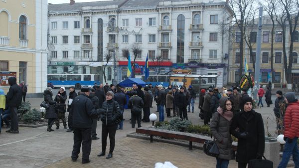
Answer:
POLYGON ((135 78, 140 78, 147 84, 151 83, 154 87, 155 85, 162 85, 163 87, 168 87, 169 85, 169 75, 149 75, 148 80, 145 80, 145 75, 135 75, 135 78))

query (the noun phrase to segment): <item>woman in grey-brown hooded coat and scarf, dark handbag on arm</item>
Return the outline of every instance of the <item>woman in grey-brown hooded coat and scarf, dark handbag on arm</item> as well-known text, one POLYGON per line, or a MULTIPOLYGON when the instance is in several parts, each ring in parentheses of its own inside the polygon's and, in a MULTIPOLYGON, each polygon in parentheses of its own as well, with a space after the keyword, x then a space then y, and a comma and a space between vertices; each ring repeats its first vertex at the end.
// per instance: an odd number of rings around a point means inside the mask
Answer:
POLYGON ((219 149, 219 156, 216 158, 216 168, 227 168, 229 160, 235 159, 235 152, 232 149, 233 140, 230 134, 230 125, 233 118, 233 101, 223 96, 219 100, 217 112, 213 114, 211 121, 211 132, 216 139, 219 149))

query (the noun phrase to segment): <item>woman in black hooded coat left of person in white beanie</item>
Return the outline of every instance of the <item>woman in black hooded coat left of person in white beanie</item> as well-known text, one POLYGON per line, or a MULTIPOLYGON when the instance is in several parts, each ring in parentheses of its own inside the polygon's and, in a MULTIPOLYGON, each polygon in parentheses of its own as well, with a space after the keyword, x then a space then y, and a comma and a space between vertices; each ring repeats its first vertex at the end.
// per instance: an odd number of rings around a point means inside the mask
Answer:
POLYGON ((46 116, 45 118, 48 119, 48 128, 47 128, 47 131, 48 132, 51 132, 51 131, 54 131, 52 130, 52 125, 54 123, 54 121, 56 120, 56 113, 55 113, 55 108, 54 108, 54 105, 56 104, 55 101, 53 101, 53 93, 52 93, 52 88, 51 87, 47 87, 45 90, 44 90, 44 101, 46 103, 49 103, 49 108, 46 108, 46 116))

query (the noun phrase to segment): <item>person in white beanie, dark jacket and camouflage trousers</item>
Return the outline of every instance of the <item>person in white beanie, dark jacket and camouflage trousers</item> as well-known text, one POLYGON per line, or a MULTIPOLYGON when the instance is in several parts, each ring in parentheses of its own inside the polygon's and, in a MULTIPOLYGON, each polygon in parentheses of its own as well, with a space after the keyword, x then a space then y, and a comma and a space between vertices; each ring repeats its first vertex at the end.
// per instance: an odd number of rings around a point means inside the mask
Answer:
POLYGON ((67 99, 67 94, 65 91, 65 87, 61 87, 57 93, 57 95, 54 98, 54 101, 56 102, 55 110, 57 114, 57 118, 55 121, 56 124, 56 130, 59 129, 59 120, 62 120, 62 124, 64 129, 67 129, 66 125, 66 119, 65 119, 65 112, 66 112, 66 106, 65 106, 65 101, 67 99))

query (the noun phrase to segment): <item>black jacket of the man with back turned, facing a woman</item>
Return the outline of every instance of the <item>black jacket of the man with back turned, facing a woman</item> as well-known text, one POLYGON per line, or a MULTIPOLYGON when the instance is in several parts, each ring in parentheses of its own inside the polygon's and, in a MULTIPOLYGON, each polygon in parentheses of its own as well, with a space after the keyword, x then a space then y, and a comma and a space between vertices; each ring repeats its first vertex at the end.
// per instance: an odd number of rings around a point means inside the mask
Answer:
POLYGON ((92 119, 96 119, 100 115, 99 109, 94 108, 92 101, 85 94, 74 98, 71 111, 74 128, 91 128, 92 119))

